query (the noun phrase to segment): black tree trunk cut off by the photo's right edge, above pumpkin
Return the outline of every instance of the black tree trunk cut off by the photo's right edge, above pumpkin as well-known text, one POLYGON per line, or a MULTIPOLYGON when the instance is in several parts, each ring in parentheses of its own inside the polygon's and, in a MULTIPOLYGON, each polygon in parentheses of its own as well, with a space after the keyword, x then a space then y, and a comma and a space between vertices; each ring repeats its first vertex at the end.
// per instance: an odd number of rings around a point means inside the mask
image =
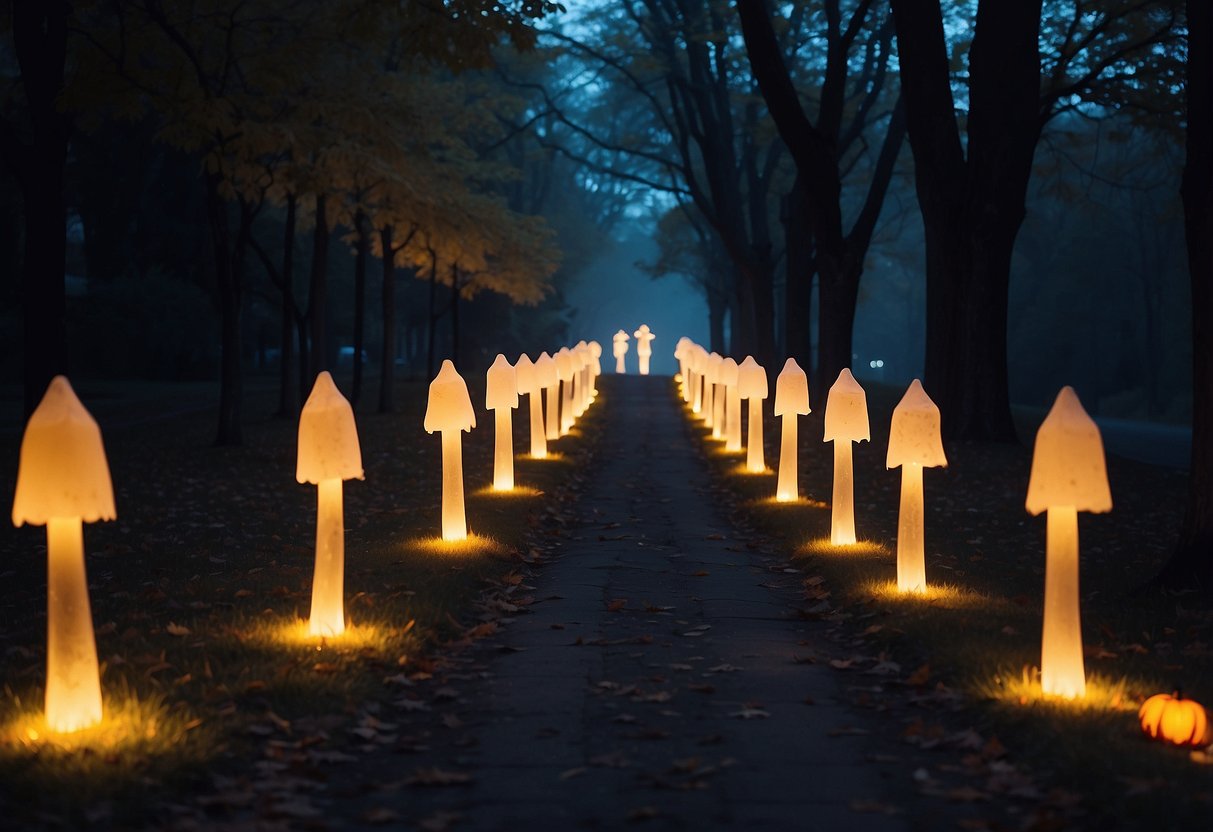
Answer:
POLYGON ((1179 543, 1158 580, 1213 595, 1213 6, 1188 0, 1184 232, 1192 291, 1192 457, 1179 543))

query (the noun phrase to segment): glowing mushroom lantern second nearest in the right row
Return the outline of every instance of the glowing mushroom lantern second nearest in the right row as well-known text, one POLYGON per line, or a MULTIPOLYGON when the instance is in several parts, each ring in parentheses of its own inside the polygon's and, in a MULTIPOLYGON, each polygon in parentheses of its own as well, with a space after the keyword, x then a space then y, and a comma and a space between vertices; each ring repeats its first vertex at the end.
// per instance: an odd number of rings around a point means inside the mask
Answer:
POLYGON ((922 469, 946 465, 939 408, 915 378, 893 409, 885 457, 887 467, 901 467, 901 505, 898 512, 898 588, 901 592, 927 591, 922 469))

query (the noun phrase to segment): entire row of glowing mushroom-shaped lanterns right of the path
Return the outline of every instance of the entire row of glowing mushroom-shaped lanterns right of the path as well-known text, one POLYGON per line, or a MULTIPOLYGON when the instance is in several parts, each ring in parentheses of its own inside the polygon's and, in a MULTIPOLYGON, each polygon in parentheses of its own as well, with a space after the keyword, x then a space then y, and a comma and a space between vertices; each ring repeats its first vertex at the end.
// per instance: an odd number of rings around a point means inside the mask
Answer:
MULTIPOLYGON (((708 353, 689 338, 674 348, 687 406, 725 451, 741 451, 741 401, 750 403, 746 469, 765 471, 762 403, 768 398, 767 372, 753 357, 738 364, 708 353)), ((775 416, 782 420, 775 498, 795 501, 797 492, 797 418, 809 412, 809 384, 796 359, 788 358, 775 380, 775 416)), ((833 443, 833 494, 830 542, 855 543, 855 498, 852 443, 870 439, 864 388, 843 369, 826 398, 822 441, 833 443)), ((888 468, 901 468, 898 514, 898 591, 923 593, 927 565, 923 540, 923 468, 944 467, 939 408, 915 378, 893 410, 888 468)), ((1078 609, 1078 512, 1110 512, 1104 445, 1099 427, 1071 387, 1063 387, 1036 433, 1027 512, 1047 513, 1044 620, 1041 639, 1041 688, 1046 694, 1078 699, 1087 682, 1078 609)))

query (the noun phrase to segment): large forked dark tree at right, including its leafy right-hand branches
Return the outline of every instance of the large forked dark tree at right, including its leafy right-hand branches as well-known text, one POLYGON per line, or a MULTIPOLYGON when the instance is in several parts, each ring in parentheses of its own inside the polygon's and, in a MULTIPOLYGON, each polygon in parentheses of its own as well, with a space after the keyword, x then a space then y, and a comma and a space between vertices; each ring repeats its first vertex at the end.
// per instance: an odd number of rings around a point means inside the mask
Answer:
POLYGON ((890 2, 926 238, 927 387, 945 437, 1014 441, 1007 296, 1041 131, 1058 113, 1098 115, 1140 93, 1116 68, 1154 63, 1174 13, 1156 0, 1050 5, 1042 56, 1041 0, 979 0, 958 102, 940 1, 890 2))

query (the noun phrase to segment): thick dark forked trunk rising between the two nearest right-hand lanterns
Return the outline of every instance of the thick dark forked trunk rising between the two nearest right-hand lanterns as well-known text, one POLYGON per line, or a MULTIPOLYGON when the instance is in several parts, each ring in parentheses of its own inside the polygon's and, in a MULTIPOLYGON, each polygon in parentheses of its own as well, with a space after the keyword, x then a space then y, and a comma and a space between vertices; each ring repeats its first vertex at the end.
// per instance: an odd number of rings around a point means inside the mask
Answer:
POLYGON ((939 0, 893 0, 927 250, 927 388, 951 439, 1014 441, 1007 291, 1040 137, 1041 0, 981 0, 968 160, 939 0))

